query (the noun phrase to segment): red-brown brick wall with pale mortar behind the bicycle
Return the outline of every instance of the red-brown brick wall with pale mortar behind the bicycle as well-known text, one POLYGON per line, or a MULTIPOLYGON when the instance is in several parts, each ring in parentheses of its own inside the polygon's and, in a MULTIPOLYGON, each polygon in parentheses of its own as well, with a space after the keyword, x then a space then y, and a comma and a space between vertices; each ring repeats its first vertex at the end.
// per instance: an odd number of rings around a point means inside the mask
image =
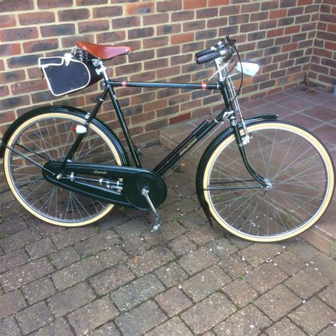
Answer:
MULTIPOLYGON (((194 53, 230 34, 242 57, 262 63, 246 78, 243 99, 300 82, 306 72, 331 88, 335 77, 335 0, 4 0, 0 1, 0 136, 15 118, 49 103, 89 109, 98 84, 55 99, 38 57, 62 55, 77 40, 130 45, 133 55, 108 62, 113 78, 201 82, 212 69, 194 53), (330 58, 334 57, 333 60, 330 58), (310 66, 310 61, 311 66, 310 66), (84 107, 85 106, 85 107, 84 107)), ((135 143, 157 141, 169 123, 218 110, 209 91, 118 89, 135 143)), ((111 103, 99 118, 118 133, 111 103)))

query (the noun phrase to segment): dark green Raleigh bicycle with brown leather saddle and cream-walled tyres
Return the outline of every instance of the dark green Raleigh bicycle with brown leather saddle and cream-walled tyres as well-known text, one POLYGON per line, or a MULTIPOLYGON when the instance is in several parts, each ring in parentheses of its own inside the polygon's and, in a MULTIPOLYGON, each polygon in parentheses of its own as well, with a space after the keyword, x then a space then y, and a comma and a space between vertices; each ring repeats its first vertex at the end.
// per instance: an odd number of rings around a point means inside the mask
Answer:
MULTIPOLYGON (((115 205, 137 208, 152 211, 155 221, 150 231, 154 233, 163 223, 157 207, 167 196, 164 174, 228 121, 228 128, 203 152, 196 173, 198 199, 211 225, 215 219, 244 239, 274 242, 316 223, 332 199, 335 177, 330 154, 315 135, 278 121, 276 114, 243 118, 237 101, 240 88, 236 93, 232 77, 236 72, 241 77, 254 75, 259 65, 240 60, 235 40, 227 36, 196 53, 198 64, 214 63, 218 81, 213 84, 112 81, 103 61, 129 52, 129 47, 77 43, 62 62, 82 62, 93 71, 91 82, 103 79, 103 92, 92 111, 67 106, 35 108, 6 130, 1 141, 6 180, 27 211, 47 223, 74 227, 94 223, 115 205), (225 107, 148 170, 140 163, 115 87, 218 90, 225 107), (107 96, 133 166, 121 140, 96 118, 107 96)), ((84 86, 89 82, 85 79, 84 86)))

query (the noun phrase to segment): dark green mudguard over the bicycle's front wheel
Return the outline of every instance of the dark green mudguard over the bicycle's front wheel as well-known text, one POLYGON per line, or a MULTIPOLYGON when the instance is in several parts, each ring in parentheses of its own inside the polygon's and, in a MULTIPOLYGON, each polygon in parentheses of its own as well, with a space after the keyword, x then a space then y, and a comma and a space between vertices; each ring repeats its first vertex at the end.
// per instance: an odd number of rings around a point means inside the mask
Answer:
MULTIPOLYGON (((258 116, 253 116, 250 118, 245 119, 246 125, 251 125, 252 123, 257 123, 259 121, 271 121, 276 120, 278 118, 278 114, 261 114, 258 116)), ((238 127, 242 128, 242 123, 238 123, 238 127)), ((202 193, 202 177, 203 172, 206 167, 206 164, 208 162, 209 157, 211 156, 213 149, 220 144, 220 142, 223 141, 224 138, 228 137, 230 134, 233 133, 233 129, 231 127, 225 128, 222 133, 218 134, 215 139, 211 141, 211 143, 206 147, 206 150, 203 152, 203 155, 200 159, 200 162, 198 163, 197 167, 197 174, 196 174, 196 191, 198 196, 198 201, 201 204, 203 211, 206 213, 206 217, 208 218, 209 222, 211 223, 211 215, 210 211, 208 210, 208 203, 206 203, 206 200, 203 197, 202 193)), ((211 223, 212 226, 212 223, 211 223)))

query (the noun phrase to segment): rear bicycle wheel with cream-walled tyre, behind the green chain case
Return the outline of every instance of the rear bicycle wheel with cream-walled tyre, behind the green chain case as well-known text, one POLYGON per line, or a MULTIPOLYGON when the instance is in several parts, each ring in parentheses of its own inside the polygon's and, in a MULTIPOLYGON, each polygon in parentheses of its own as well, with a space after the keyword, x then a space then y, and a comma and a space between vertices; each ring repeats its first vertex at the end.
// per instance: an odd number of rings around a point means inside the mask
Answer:
MULTIPOLYGON (((65 157, 77 134, 72 130, 84 125, 84 116, 57 111, 30 118, 11 134, 7 146, 28 155, 38 164, 65 157)), ((90 123, 74 162, 122 164, 121 155, 99 124, 90 123)), ((42 169, 6 148, 4 172, 13 195, 35 217, 47 223, 68 227, 87 225, 103 218, 113 204, 96 201, 45 181, 42 169), (40 198, 40 199, 39 199, 40 198)))

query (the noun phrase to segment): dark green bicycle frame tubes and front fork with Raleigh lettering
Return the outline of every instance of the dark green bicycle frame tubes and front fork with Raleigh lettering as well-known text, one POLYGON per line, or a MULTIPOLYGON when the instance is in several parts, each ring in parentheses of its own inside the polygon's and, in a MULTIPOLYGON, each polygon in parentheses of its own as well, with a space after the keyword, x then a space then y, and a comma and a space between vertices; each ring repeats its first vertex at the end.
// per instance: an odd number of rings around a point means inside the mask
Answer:
MULTIPOLYGON (((254 172, 254 169, 250 166, 244 147, 242 146, 242 138, 240 135, 239 126, 237 125, 237 120, 235 118, 235 109, 233 108, 233 103, 230 100, 230 94, 228 85, 226 82, 218 82, 216 84, 189 84, 189 83, 166 83, 166 82, 116 82, 111 80, 105 81, 105 89, 103 91, 103 94, 99 97, 99 101, 96 103, 96 106, 91 111, 91 113, 88 113, 86 116, 86 123, 84 124, 85 127, 89 125, 90 121, 95 118, 96 114, 99 111, 99 108, 101 107, 101 104, 103 101, 105 101, 106 96, 109 95, 111 98, 111 101, 113 103, 113 108, 116 111, 116 115, 118 117, 118 121, 121 125, 121 129, 123 130, 123 134, 125 136, 125 140, 127 142, 127 145, 130 149, 130 155, 132 156, 133 162, 135 164, 135 167, 141 168, 140 159, 138 157, 138 153, 135 150, 135 145, 133 144, 133 140, 130 136, 130 133, 128 131, 128 126, 125 123, 125 118, 123 116, 123 112, 121 111, 121 106, 118 102, 118 98, 116 96, 116 93, 114 91, 114 87, 144 87, 144 88, 155 88, 155 89, 162 89, 162 88, 171 88, 171 89, 203 89, 203 90, 220 90, 220 93, 223 96, 223 101, 225 103, 225 108, 218 113, 218 116, 216 116, 213 120, 209 119, 206 121, 203 121, 201 125, 199 125, 197 128, 195 128, 191 134, 184 139, 172 152, 167 155, 167 157, 164 157, 159 164, 153 169, 157 174, 163 175, 167 170, 172 168, 174 164, 176 164, 181 157, 183 157, 186 152, 189 152, 194 145, 198 143, 199 140, 201 140, 208 132, 210 132, 218 123, 223 121, 223 116, 226 112, 230 112, 230 124, 233 128, 233 133, 235 134, 235 139, 237 141, 238 148, 240 150, 240 155, 242 156, 242 160, 252 177, 257 180, 262 186, 266 186, 264 183, 262 177, 259 176, 256 172, 254 172)), ((65 160, 62 162, 62 166, 60 167, 60 170, 65 167, 65 164, 69 159, 72 158, 72 155, 77 150, 79 143, 84 138, 84 134, 78 135, 77 139, 75 140, 74 144, 72 145, 72 148, 69 150, 67 157, 65 157, 65 160)))

